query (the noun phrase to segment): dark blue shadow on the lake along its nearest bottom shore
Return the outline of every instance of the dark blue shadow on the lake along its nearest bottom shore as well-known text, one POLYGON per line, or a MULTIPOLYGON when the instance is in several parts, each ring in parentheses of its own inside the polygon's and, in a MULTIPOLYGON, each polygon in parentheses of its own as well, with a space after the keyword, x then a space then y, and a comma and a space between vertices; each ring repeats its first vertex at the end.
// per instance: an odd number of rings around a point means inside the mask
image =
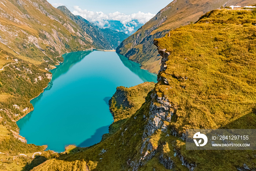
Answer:
POLYGON ((94 145, 101 141, 102 135, 109 133, 109 125, 108 126, 102 126, 101 128, 97 129, 91 138, 86 139, 82 143, 78 145, 78 147, 89 147, 91 145, 94 145))

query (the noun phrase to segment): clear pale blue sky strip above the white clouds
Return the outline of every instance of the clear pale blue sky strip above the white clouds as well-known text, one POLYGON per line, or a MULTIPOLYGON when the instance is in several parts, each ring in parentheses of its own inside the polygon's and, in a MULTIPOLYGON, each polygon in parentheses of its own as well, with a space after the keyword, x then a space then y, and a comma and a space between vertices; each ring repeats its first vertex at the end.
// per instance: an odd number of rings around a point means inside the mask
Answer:
POLYGON ((157 14, 162 8, 166 7, 172 0, 48 0, 54 7, 65 5, 70 11, 74 6, 89 11, 102 11, 103 13, 122 12, 133 14, 138 11, 157 14))

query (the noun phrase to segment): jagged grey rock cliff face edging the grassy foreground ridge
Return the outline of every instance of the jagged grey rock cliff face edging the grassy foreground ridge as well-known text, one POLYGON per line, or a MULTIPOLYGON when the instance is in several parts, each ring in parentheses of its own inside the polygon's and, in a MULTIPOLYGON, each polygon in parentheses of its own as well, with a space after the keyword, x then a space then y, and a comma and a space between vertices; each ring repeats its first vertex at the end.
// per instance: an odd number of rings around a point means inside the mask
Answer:
MULTIPOLYGON (((154 41, 154 45, 157 45, 157 41, 154 41)), ((166 49, 159 49, 158 52, 162 56, 161 60, 161 69, 159 72, 164 71, 166 68, 166 61, 168 60, 169 52, 165 52, 166 49)), ((163 78, 159 77, 158 81, 161 81, 163 78)), ((167 82, 167 80, 164 80, 167 82)), ((148 160, 152 159, 154 155, 161 151, 159 147, 153 147, 150 142, 150 136, 152 136, 156 130, 161 130, 162 132, 167 133, 167 125, 164 122, 171 122, 171 118, 173 115, 173 107, 166 96, 159 97, 157 96, 156 92, 151 94, 151 102, 150 102, 150 111, 147 125, 144 128, 143 136, 142 136, 142 146, 140 148, 140 159, 139 161, 133 161, 131 163, 131 167, 133 170, 138 170, 139 166, 143 166, 148 160)), ((163 155, 160 155, 159 161, 164 164, 166 168, 174 167, 174 163, 168 163, 170 159, 165 159, 163 155)))

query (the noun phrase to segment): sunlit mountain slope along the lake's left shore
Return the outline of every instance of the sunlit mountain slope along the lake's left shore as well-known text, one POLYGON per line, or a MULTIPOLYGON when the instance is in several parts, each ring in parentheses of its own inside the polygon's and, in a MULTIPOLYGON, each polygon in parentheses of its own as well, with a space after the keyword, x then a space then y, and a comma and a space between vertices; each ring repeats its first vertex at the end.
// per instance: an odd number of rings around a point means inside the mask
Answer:
POLYGON ((92 36, 46 0, 0 1, 0 170, 22 170, 34 152, 45 154, 42 161, 54 154, 27 144, 15 121, 33 110, 30 100, 48 85, 61 54, 108 48, 92 36))

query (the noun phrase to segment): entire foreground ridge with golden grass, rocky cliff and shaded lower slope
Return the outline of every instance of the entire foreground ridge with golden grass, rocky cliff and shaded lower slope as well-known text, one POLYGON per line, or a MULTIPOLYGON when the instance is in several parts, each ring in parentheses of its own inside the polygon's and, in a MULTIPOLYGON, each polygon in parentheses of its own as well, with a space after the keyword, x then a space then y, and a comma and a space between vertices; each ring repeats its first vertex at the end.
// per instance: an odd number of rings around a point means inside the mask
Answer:
POLYGON ((186 150, 186 128, 254 129, 256 9, 214 10, 154 44, 158 83, 142 107, 102 142, 34 171, 256 170, 252 150, 186 150))

